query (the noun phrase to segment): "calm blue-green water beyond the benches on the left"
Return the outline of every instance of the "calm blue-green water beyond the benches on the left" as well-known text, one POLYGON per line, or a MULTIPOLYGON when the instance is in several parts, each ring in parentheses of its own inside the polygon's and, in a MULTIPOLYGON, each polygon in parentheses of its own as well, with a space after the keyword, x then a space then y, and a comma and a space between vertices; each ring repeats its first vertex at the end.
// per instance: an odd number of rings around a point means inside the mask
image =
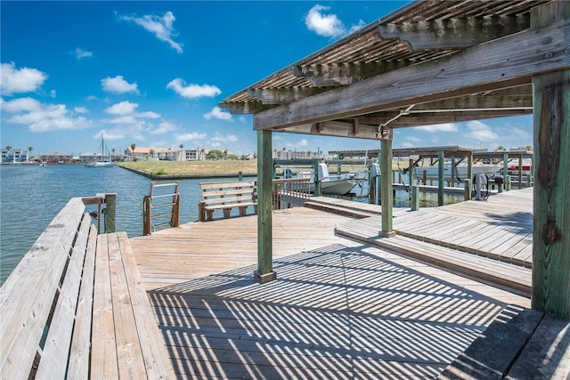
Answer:
MULTIPOLYGON (((225 180, 179 181, 181 223, 198 219, 199 182, 215 181, 225 180)), ((0 166, 0 282, 69 198, 117 193, 116 230, 125 230, 130 238, 142 235, 142 198, 150 184, 150 179, 120 167, 0 166)))

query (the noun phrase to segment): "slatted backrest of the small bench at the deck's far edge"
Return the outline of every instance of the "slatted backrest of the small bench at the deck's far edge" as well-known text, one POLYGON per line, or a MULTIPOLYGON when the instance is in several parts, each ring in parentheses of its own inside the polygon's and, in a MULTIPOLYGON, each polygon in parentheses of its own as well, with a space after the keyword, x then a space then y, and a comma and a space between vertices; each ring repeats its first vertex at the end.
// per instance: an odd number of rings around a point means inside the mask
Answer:
POLYGON ((206 206, 256 202, 256 181, 200 183, 206 206))

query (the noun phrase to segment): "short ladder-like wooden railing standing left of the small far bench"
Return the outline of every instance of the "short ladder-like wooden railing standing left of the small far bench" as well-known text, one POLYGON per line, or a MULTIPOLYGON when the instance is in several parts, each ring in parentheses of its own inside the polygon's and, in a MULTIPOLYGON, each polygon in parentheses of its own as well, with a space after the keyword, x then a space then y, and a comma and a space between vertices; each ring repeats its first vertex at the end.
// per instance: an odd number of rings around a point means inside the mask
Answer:
POLYGON ((149 195, 142 199, 142 235, 151 235, 155 230, 179 225, 178 183, 156 184, 151 182, 149 195), (155 190, 159 191, 159 194, 156 194, 155 190), (159 210, 160 214, 154 214, 154 210, 159 210))

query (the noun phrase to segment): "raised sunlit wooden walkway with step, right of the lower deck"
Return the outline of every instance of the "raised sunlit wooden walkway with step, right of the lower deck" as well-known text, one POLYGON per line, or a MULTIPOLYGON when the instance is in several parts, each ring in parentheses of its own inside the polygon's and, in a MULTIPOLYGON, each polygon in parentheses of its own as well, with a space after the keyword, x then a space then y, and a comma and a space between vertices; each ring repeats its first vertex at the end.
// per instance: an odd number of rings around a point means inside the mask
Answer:
POLYGON ((530 296, 533 190, 395 211, 396 237, 379 238, 379 216, 340 222, 337 233, 530 296))

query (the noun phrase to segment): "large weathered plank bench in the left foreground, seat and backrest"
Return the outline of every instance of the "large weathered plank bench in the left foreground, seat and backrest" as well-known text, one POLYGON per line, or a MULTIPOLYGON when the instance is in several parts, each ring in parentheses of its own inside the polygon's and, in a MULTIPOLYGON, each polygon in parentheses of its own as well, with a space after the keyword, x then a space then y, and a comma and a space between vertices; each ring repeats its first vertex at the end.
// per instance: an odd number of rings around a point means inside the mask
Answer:
POLYGON ((0 288, 0 378, 171 378, 125 232, 72 198, 0 288))

